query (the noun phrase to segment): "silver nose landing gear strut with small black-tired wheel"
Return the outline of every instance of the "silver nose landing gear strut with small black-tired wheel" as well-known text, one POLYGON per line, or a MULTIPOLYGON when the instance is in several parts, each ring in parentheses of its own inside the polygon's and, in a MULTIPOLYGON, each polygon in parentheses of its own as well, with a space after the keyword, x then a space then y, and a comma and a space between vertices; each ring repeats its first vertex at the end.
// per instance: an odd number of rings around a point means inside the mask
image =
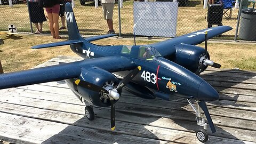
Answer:
POLYGON ((207 134, 206 130, 207 130, 207 123, 205 122, 205 119, 202 117, 202 113, 201 113, 201 109, 197 103, 198 106, 198 110, 196 110, 196 108, 194 107, 193 103, 189 100, 188 103, 190 104, 190 106, 194 109, 194 111, 196 112, 196 121, 197 121, 197 125, 199 126, 203 126, 204 129, 199 129, 198 131, 196 131, 196 137, 199 141, 201 142, 206 142, 209 138, 209 135, 207 134))

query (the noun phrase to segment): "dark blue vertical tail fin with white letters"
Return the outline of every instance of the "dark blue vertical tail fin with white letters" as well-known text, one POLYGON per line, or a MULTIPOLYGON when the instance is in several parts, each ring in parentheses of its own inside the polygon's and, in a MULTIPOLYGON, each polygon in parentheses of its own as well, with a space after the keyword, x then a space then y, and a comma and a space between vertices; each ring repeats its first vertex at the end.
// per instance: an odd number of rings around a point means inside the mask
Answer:
POLYGON ((68 27, 68 38, 69 40, 78 40, 82 39, 79 34, 79 30, 76 23, 76 18, 71 7, 70 3, 66 3, 65 5, 65 13, 66 13, 66 22, 68 27))

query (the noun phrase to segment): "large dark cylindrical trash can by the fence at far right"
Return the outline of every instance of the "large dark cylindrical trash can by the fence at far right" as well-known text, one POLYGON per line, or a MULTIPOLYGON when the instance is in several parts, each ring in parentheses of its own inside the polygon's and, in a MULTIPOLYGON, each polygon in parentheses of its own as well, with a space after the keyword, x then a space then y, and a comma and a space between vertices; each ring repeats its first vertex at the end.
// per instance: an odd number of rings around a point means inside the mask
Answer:
POLYGON ((256 41, 256 9, 242 9, 238 37, 256 41))

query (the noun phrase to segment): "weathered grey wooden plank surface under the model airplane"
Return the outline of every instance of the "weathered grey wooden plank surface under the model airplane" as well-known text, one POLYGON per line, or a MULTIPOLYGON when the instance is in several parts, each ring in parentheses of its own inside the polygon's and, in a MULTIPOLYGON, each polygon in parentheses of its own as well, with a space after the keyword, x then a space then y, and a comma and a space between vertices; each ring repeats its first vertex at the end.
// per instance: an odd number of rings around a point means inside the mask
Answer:
MULTIPOLYGON (((82 60, 51 59, 42 65, 82 60)), ((217 132, 208 143, 256 143, 256 73, 208 68, 201 75, 219 93, 207 103, 217 132)), ((0 141, 14 143, 201 143, 195 113, 186 100, 142 99, 123 90, 116 107, 116 130, 110 130, 110 108, 84 103, 64 81, 0 90, 0 141)))

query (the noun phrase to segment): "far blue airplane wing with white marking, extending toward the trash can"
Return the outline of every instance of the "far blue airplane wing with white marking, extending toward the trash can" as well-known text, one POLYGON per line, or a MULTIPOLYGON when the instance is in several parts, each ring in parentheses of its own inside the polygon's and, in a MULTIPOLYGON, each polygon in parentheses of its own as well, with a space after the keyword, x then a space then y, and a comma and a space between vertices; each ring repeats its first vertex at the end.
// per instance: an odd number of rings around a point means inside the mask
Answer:
POLYGON ((207 28, 207 29, 195 31, 190 34, 175 37, 167 41, 154 43, 154 44, 151 44, 150 46, 155 47, 158 50, 158 52, 161 54, 170 55, 175 52, 175 49, 169 49, 169 47, 173 47, 175 44, 184 43, 184 44, 190 44, 190 45, 197 45, 204 42, 205 31, 207 31, 208 39, 210 39, 215 36, 221 35, 222 33, 225 33, 226 31, 229 31, 231 29, 232 28, 229 26, 207 28))

